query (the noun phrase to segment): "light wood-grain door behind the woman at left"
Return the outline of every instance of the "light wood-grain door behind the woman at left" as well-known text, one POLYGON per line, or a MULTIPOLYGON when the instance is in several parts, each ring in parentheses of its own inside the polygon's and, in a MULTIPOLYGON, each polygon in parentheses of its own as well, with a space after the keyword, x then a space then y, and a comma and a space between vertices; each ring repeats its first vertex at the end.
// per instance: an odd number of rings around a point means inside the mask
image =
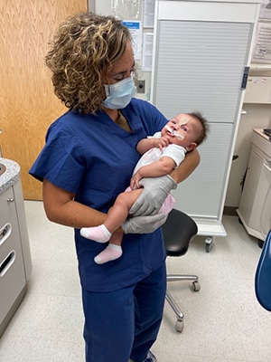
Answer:
POLYGON ((67 110, 44 65, 48 43, 62 20, 87 9, 87 0, 0 2, 0 145, 3 157, 21 167, 24 199, 42 199, 42 184, 28 170, 48 126, 67 110))

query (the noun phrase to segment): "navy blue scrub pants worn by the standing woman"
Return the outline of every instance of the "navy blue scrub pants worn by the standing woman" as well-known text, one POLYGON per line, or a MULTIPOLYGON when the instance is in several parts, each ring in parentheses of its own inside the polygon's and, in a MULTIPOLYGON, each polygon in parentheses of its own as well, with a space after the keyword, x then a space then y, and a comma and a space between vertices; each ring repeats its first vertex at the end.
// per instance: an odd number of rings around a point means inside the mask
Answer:
POLYGON ((82 291, 86 362, 143 361, 161 325, 165 265, 118 291, 82 291))

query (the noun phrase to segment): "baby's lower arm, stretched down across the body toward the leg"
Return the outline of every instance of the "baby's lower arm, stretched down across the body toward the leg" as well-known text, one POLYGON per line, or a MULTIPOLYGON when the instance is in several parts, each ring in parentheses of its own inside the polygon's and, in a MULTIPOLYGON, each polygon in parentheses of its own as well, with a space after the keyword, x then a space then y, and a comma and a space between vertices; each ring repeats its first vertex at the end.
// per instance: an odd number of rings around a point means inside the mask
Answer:
POLYGON ((175 161, 171 157, 161 157, 152 164, 140 167, 135 175, 131 178, 130 186, 132 189, 136 186, 139 188, 139 181, 143 177, 158 177, 169 174, 176 166, 175 161))

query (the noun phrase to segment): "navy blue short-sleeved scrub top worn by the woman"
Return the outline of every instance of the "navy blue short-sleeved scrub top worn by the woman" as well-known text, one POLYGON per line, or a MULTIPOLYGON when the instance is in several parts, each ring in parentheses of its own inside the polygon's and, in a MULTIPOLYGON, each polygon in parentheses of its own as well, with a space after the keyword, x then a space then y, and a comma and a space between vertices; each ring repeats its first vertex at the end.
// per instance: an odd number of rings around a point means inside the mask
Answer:
MULTIPOLYGON (((167 122, 145 100, 133 99, 121 112, 131 132, 121 129, 102 111, 96 116, 71 111, 63 114, 48 129, 46 144, 29 173, 74 193, 79 203, 107 213, 117 195, 129 186, 140 157, 136 144, 167 122)), ((125 234, 121 258, 105 264, 96 264, 93 258, 106 244, 81 237, 78 229, 75 243, 81 285, 88 291, 124 288, 159 268, 165 260, 161 228, 154 233, 125 234)))

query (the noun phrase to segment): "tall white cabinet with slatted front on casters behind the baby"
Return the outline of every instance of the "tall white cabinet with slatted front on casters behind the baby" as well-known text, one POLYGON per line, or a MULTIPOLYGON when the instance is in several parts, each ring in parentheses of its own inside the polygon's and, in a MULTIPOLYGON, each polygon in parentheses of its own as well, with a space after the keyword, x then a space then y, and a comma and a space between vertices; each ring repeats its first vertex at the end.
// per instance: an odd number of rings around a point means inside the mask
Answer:
POLYGON ((200 110, 210 121, 200 166, 173 192, 207 252, 226 235, 221 218, 259 8, 255 0, 155 4, 151 101, 168 119, 200 110))

